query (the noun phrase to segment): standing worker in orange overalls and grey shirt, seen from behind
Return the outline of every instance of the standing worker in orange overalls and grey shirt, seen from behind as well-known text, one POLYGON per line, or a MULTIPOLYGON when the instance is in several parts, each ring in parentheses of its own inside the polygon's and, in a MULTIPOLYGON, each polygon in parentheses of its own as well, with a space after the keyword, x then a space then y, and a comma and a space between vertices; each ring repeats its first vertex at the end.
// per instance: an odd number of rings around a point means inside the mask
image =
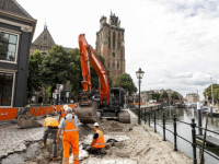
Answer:
POLYGON ((62 131, 64 159, 62 163, 69 163, 70 145, 73 152, 73 164, 79 164, 79 133, 78 133, 78 117, 72 115, 70 107, 65 108, 66 117, 61 119, 56 142, 59 143, 59 138, 62 131))

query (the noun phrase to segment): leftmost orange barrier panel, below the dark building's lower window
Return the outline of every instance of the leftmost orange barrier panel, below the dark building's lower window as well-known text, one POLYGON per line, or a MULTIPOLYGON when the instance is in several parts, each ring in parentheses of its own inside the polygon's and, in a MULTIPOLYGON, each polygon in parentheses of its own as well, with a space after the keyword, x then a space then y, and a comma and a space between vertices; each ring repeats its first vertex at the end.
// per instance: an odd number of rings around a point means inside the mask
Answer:
POLYGON ((0 108, 0 121, 15 119, 19 108, 0 108))

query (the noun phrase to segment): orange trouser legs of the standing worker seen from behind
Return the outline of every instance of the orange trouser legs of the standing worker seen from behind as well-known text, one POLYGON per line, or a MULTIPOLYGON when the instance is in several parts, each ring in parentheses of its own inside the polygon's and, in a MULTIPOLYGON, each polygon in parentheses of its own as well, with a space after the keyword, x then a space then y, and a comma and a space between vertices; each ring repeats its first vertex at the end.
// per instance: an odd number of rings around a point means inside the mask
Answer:
POLYGON ((69 164, 69 151, 70 145, 73 153, 73 164, 79 164, 79 134, 69 134, 68 137, 62 138, 64 142, 64 159, 62 164, 69 164))

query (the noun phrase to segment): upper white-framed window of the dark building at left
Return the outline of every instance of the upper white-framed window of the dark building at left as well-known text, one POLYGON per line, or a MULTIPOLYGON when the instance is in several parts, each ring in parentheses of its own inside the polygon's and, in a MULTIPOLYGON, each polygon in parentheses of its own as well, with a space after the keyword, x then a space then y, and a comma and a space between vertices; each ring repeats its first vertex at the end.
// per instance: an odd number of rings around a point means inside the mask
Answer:
POLYGON ((0 32, 0 60, 15 61, 18 35, 0 32))

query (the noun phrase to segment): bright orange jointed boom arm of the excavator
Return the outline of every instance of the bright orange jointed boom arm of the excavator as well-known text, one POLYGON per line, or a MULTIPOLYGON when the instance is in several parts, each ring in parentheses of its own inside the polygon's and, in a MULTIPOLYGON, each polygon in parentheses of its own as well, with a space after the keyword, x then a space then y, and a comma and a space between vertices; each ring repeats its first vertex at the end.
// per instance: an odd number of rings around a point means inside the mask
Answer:
POLYGON ((88 44, 85 40, 84 34, 79 35, 79 48, 80 48, 80 59, 82 67, 82 77, 83 81, 81 82, 83 85, 83 92, 91 91, 91 72, 90 72, 90 63, 93 66, 95 72, 99 75, 101 85, 99 86, 100 92, 100 104, 103 104, 103 101, 106 102, 106 105, 110 103, 110 86, 108 86, 108 78, 105 68, 99 60, 95 50, 92 46, 88 44))

